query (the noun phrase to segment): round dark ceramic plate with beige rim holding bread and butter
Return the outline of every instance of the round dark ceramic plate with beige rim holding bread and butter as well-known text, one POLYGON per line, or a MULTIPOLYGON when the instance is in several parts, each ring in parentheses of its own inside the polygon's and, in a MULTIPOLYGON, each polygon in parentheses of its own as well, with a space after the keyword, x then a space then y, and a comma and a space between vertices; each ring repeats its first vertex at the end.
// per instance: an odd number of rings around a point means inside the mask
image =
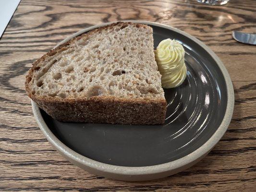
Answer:
POLYGON ((170 26, 136 23, 153 28, 155 48, 161 40, 174 38, 186 52, 186 80, 164 90, 168 105, 163 125, 59 122, 32 102, 40 129, 63 156, 89 172, 118 180, 157 179, 192 166, 226 132, 234 105, 229 74, 206 45, 170 26))

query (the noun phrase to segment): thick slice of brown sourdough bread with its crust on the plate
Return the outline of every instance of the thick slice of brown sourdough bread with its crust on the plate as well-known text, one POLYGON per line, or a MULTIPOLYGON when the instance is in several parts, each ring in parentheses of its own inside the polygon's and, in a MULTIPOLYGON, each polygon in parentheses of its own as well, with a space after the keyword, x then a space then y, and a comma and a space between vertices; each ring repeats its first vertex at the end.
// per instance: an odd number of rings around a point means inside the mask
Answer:
POLYGON ((61 121, 161 124, 166 100, 152 28, 115 23, 77 36, 33 63, 28 96, 61 121))

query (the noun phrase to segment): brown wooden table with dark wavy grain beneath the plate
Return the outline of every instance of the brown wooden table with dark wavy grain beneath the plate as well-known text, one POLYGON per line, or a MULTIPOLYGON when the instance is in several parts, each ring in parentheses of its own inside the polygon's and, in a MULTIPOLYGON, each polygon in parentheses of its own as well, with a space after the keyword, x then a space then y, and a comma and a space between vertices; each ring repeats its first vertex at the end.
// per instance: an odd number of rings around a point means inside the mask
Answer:
POLYGON ((255 0, 225 6, 196 0, 22 0, 0 39, 0 191, 256 190, 256 46, 233 40, 233 30, 256 33, 255 0), (203 41, 225 64, 235 92, 232 122, 209 155, 181 173, 147 182, 105 179, 68 162, 39 130, 24 91, 31 63, 62 39, 130 19, 168 24, 203 41))

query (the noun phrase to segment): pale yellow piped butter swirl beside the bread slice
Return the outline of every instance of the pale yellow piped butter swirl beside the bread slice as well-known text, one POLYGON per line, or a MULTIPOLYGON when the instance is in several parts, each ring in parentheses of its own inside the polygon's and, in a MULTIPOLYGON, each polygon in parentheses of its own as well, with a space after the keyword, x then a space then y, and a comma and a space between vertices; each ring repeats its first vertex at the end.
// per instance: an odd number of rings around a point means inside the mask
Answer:
POLYGON ((187 68, 184 62, 183 46, 175 41, 165 39, 155 50, 158 71, 161 73, 163 88, 173 88, 181 85, 186 78, 187 68))

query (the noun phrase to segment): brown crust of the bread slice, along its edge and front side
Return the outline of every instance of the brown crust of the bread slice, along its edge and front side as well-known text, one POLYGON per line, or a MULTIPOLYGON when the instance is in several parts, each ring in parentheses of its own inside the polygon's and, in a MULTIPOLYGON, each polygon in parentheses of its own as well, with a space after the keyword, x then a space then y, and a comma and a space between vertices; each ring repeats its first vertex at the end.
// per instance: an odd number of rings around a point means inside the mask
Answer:
MULTIPOLYGON (((116 123, 116 124, 162 124, 166 113, 164 98, 120 98, 115 96, 92 96, 90 98, 60 98, 37 96, 32 93, 31 80, 41 61, 60 52, 70 43, 80 38, 90 36, 98 31, 119 25, 128 26, 133 23, 113 23, 102 26, 88 33, 74 37, 61 46, 50 50, 33 63, 26 76, 25 89, 28 96, 45 110, 50 116, 60 121, 116 123)), ((144 24, 133 24, 136 27, 148 28, 144 24)), ((152 28, 149 27, 151 30, 152 28)))

